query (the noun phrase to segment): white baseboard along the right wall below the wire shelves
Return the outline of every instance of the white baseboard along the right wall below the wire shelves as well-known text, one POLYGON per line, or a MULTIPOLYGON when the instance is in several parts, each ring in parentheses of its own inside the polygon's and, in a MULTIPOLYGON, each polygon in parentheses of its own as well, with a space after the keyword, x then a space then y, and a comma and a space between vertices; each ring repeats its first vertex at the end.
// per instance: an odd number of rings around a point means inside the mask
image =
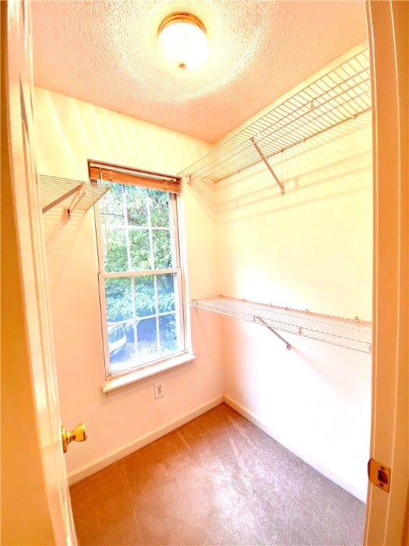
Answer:
POLYGON ((345 491, 348 491, 348 493, 351 493, 356 498, 359 498, 359 501, 362 501, 363 503, 366 503, 366 491, 363 492, 359 490, 358 488, 351 485, 351 483, 348 483, 344 481, 342 478, 337 476, 337 474, 334 474, 329 469, 325 468, 320 464, 319 461, 316 461, 315 459, 310 458, 309 456, 305 456, 305 453, 300 451, 297 446, 294 444, 288 444, 287 441, 283 441, 282 438, 278 437, 278 435, 271 429, 271 427, 268 426, 268 424, 264 423, 259 419, 256 414, 253 414, 250 410, 246 410, 245 407, 239 405, 237 402, 234 402, 234 400, 231 400, 231 398, 224 396, 224 402, 226 402, 227 405, 232 407, 236 412, 241 414, 243 417, 246 417, 248 421, 255 424, 258 429, 261 429, 263 432, 266 432, 268 436, 278 441, 279 444, 285 447, 285 449, 288 449, 288 451, 291 451, 294 455, 298 456, 302 461, 307 463, 308 465, 312 466, 313 469, 320 472, 322 476, 325 476, 329 480, 333 481, 337 484, 337 486, 342 487, 345 491))

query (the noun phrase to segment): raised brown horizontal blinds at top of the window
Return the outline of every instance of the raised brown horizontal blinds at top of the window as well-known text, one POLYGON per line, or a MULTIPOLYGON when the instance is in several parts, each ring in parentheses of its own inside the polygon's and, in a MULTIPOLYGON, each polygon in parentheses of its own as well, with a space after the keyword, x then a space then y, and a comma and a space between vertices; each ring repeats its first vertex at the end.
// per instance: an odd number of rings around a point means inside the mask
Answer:
POLYGON ((90 180, 104 180, 143 186, 155 190, 180 193, 180 178, 168 174, 152 173, 151 171, 139 171, 135 168, 124 167, 104 163, 103 161, 88 161, 88 174, 90 180))

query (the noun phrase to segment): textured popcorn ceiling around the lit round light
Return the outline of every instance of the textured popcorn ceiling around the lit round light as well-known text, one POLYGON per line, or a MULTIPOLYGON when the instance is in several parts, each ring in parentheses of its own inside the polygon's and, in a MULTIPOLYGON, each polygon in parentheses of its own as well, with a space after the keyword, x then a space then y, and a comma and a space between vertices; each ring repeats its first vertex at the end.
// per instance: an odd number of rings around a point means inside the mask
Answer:
POLYGON ((366 40, 364 0, 34 0, 32 12, 35 85, 209 142, 366 40), (156 55, 173 11, 205 23, 197 72, 156 55))

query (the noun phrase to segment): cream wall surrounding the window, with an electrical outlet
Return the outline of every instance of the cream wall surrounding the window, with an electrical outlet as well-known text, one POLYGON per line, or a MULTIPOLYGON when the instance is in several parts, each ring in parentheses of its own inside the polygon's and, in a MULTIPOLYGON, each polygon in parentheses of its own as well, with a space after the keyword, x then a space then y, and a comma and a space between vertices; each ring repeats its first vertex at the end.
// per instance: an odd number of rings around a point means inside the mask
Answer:
MULTIPOLYGON (((175 174, 208 144, 41 89, 35 90, 39 173, 84 180, 87 159, 175 174)), ((190 298, 216 290, 216 228, 186 188, 185 253, 190 298)), ((93 210, 70 220, 58 208, 43 215, 62 422, 87 422, 89 437, 67 452, 71 481, 114 461, 184 419, 222 400, 222 350, 217 323, 193 317, 197 359, 107 396, 97 284, 93 210)))

